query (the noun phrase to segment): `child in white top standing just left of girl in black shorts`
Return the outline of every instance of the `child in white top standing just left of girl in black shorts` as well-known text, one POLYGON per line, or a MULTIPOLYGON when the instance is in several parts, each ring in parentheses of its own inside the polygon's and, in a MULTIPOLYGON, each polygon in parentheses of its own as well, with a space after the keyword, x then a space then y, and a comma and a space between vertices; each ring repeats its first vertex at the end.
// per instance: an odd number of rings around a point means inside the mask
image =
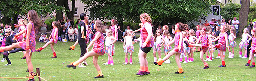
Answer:
POLYGON ((125 62, 124 62, 125 65, 128 63, 128 53, 130 54, 129 64, 133 64, 132 53, 134 52, 134 47, 133 47, 134 35, 135 33, 132 30, 127 30, 124 37, 123 49, 125 53, 125 62))

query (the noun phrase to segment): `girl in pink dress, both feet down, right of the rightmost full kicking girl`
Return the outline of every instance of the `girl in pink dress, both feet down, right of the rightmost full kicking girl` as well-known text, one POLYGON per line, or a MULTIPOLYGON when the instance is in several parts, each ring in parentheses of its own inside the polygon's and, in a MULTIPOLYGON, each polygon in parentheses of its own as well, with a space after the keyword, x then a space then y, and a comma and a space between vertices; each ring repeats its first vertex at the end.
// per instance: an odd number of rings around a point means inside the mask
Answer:
POLYGON ((221 62, 222 65, 220 65, 219 67, 226 67, 225 61, 224 61, 224 56, 223 56, 223 52, 226 51, 226 47, 228 47, 228 40, 227 40, 227 33, 225 32, 225 27, 224 25, 221 25, 221 33, 219 34, 219 36, 217 38, 215 38, 213 41, 217 41, 218 40, 218 44, 214 45, 214 48, 217 48, 220 50, 220 56, 221 56, 221 62))

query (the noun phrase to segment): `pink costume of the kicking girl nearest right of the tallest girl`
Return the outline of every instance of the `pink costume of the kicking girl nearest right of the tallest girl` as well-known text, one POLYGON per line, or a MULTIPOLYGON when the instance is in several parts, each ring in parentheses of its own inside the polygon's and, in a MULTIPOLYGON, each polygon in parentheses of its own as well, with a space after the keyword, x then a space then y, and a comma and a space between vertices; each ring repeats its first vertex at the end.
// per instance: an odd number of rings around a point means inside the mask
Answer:
POLYGON ((174 36, 174 50, 176 52, 178 52, 178 53, 183 53, 184 52, 183 42, 179 42, 180 41, 180 34, 182 35, 181 32, 175 32, 175 36, 174 36), (178 49, 179 43, 181 43, 180 51, 178 49))

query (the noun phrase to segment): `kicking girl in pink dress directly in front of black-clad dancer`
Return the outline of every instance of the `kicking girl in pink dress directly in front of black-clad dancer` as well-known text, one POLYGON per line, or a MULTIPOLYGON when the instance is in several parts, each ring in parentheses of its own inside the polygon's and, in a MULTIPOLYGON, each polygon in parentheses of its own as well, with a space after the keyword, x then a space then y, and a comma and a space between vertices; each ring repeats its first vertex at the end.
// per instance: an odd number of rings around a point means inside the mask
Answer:
POLYGON ((73 69, 76 69, 76 66, 86 60, 88 57, 93 57, 93 64, 96 70, 98 71, 99 75, 97 75, 94 78, 104 78, 104 75, 98 65, 98 58, 99 56, 104 55, 104 35, 105 32, 104 25, 102 21, 97 20, 94 24, 94 28, 97 30, 94 39, 90 42, 88 47, 86 48, 87 53, 81 57, 76 62, 70 63, 70 65, 67 65, 68 68, 72 67, 73 69), (89 48, 93 46, 92 50, 88 52, 89 48))

